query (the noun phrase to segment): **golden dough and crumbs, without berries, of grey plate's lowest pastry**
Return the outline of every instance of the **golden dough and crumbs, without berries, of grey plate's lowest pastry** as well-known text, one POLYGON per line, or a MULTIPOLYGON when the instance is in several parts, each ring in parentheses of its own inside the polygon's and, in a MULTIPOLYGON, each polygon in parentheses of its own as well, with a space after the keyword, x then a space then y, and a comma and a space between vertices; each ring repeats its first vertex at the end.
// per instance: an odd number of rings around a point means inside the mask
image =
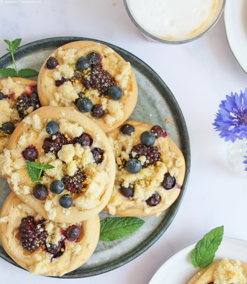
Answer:
MULTIPOLYGON (((14 193, 10 193, 2 206, 0 218, 1 240, 5 251, 21 267, 29 270, 31 274, 44 276, 62 276, 77 269, 85 263, 95 250, 100 233, 100 221, 98 215, 78 223, 81 234, 76 242, 64 237, 64 253, 52 258, 44 246, 37 251, 29 252, 22 247, 18 236, 18 227, 22 218, 33 216, 40 220, 40 215, 24 204, 14 193), (52 261, 51 261, 52 260, 52 261)), ((45 221, 46 225, 52 225, 65 230, 73 224, 58 224, 45 221)))

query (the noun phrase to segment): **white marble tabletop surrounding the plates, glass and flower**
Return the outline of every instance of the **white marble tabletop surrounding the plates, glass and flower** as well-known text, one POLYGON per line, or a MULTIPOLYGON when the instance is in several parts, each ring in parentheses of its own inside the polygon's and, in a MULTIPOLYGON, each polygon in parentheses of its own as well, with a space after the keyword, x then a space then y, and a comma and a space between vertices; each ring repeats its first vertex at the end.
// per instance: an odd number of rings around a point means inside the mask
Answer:
POLYGON ((0 56, 7 52, 4 39, 22 38, 23 45, 48 37, 78 36, 120 46, 151 66, 183 112, 191 145, 191 171, 173 222, 152 247, 131 262, 98 276, 52 279, 30 275, 0 259, 1 283, 145 284, 170 254, 212 228, 224 225, 225 237, 247 240, 247 180, 231 170, 228 143, 212 126, 225 95, 247 87, 247 76, 228 47, 222 17, 204 37, 174 46, 147 41, 128 18, 122 0, 116 5, 111 0, 4 2, 0 2, 0 56))

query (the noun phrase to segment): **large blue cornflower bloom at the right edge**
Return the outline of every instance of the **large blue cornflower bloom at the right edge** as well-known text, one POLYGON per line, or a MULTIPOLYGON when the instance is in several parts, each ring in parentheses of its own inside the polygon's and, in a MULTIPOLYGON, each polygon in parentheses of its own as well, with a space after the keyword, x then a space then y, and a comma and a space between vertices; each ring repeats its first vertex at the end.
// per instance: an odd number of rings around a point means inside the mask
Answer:
POLYGON ((220 138, 234 142, 247 137, 247 88, 244 93, 240 91, 240 95, 233 92, 231 96, 226 95, 219 107, 213 125, 216 131, 221 131, 220 138))

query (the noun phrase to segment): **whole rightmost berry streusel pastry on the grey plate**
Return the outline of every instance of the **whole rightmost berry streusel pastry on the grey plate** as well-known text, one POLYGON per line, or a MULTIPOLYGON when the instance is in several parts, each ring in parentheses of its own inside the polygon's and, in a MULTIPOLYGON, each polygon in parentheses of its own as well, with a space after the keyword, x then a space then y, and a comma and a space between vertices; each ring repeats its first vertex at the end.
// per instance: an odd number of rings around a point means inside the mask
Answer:
POLYGON ((127 120, 107 136, 116 177, 105 210, 120 216, 158 216, 179 196, 185 175, 182 152, 158 125, 127 120))

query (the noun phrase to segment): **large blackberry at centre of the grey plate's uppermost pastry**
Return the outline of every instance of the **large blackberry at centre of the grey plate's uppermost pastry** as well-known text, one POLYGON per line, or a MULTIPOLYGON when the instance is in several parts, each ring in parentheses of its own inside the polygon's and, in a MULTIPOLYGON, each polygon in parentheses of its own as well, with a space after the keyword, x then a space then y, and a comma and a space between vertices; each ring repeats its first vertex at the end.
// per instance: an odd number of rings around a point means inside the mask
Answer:
POLYGON ((107 94, 108 89, 115 85, 115 79, 108 71, 102 70, 100 66, 94 66, 90 75, 82 76, 81 83, 87 90, 90 88, 98 90, 100 96, 102 96, 107 94), (87 80, 88 78, 90 80, 87 80))

